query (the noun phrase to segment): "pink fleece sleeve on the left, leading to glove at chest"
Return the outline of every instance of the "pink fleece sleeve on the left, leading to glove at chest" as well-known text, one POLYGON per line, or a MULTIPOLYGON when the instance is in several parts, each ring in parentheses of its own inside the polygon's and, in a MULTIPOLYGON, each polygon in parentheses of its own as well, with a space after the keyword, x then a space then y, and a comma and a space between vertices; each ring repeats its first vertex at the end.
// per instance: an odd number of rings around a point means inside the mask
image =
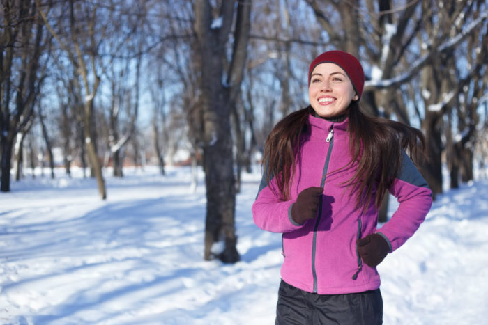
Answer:
POLYGON ((256 200, 252 204, 254 223, 270 232, 291 232, 300 229, 302 225, 291 219, 291 206, 294 201, 280 200, 275 195, 277 191, 273 191, 273 186, 275 182, 271 180, 270 184, 267 184, 266 177, 263 176, 256 200))

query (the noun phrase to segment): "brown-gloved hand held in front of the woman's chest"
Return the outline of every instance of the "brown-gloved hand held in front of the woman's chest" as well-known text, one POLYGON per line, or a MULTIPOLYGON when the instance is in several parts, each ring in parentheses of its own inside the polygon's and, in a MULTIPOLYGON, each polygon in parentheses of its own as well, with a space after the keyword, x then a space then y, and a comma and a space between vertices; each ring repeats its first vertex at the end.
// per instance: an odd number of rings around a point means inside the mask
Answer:
POLYGON ((308 219, 314 219, 317 216, 321 193, 323 193, 323 187, 309 187, 301 191, 291 206, 293 221, 303 225, 308 219))

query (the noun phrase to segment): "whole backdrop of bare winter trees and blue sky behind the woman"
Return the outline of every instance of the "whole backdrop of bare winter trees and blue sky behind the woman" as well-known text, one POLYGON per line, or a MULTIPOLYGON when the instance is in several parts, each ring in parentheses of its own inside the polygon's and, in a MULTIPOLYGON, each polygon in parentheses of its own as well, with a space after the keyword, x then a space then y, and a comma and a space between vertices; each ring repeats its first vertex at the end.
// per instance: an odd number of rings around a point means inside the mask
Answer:
POLYGON ((105 199, 108 167, 200 164, 205 258, 234 262, 241 171, 329 49, 363 63, 367 113, 425 133, 434 195, 487 177, 486 1, 1 0, 1 191, 79 166, 105 199))

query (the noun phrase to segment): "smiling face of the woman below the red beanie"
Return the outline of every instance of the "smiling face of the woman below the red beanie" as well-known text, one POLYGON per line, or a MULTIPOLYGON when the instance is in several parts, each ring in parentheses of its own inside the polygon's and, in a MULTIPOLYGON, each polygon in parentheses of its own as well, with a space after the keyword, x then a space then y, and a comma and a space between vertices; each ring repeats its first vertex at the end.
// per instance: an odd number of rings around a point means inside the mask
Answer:
POLYGON ((321 63, 312 71, 308 99, 322 118, 340 116, 359 96, 346 72, 334 63, 321 63))

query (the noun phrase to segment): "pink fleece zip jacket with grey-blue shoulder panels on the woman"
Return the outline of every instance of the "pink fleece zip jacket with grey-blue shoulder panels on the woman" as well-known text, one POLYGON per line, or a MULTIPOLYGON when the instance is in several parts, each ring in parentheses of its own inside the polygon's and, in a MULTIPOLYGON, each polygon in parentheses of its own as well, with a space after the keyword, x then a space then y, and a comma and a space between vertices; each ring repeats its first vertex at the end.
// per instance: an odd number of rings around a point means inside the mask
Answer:
POLYGON ((379 274, 358 257, 356 239, 378 232, 388 241, 390 252, 395 251, 424 221, 432 205, 432 192, 404 154, 399 175, 390 188, 399 207, 376 231, 378 211, 374 203, 365 214, 361 213, 344 185, 356 168, 347 166, 351 160, 348 120, 334 123, 310 116, 308 122, 291 183, 291 200, 277 198, 277 191, 272 190, 274 180, 266 184, 264 179, 252 205, 254 223, 263 230, 282 232, 284 282, 319 294, 377 289, 379 274), (291 205, 308 187, 323 187, 321 205, 317 218, 298 225, 291 219, 291 205))

